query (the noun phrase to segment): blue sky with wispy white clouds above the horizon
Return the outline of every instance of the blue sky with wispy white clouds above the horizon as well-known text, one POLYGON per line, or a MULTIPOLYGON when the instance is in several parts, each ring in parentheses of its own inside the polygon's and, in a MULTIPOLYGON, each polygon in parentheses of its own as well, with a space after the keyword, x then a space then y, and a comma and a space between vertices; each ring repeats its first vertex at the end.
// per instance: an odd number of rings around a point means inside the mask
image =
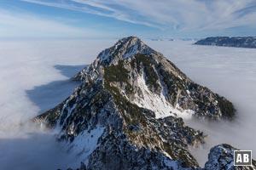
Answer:
POLYGON ((255 0, 1 0, 0 38, 256 36, 255 0))

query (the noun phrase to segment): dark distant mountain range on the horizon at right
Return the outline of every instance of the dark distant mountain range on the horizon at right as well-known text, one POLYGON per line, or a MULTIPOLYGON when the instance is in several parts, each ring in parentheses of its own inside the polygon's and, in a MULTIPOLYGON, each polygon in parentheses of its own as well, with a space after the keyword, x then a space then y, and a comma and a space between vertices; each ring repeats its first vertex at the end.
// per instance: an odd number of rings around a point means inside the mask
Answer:
POLYGON ((207 37, 195 42, 195 44, 236 48, 256 48, 256 37, 207 37))

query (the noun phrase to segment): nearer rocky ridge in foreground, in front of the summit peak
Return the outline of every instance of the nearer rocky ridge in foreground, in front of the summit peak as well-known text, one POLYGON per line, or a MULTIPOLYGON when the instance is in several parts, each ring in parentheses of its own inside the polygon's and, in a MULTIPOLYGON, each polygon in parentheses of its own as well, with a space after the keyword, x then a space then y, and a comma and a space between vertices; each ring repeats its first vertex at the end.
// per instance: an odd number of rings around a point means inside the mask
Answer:
POLYGON ((154 112, 114 93, 100 82, 84 83, 72 97, 35 121, 59 130, 57 138, 79 149, 89 169, 198 167, 188 144, 203 143, 203 133, 184 126, 183 120, 174 116, 157 120, 154 112), (85 139, 79 141, 81 136, 85 139), (90 146, 95 150, 87 146, 90 140, 96 141, 90 146))

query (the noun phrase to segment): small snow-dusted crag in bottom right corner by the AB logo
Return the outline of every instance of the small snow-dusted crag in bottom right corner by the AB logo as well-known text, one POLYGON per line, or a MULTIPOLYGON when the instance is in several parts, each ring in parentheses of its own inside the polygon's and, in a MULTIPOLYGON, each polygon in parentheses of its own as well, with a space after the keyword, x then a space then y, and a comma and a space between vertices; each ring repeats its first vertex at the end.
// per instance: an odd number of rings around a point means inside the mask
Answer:
POLYGON ((230 144, 219 144, 214 146, 208 155, 208 161, 205 165, 207 170, 252 170, 256 169, 256 161, 252 161, 252 166, 234 166, 234 150, 236 148, 230 144))

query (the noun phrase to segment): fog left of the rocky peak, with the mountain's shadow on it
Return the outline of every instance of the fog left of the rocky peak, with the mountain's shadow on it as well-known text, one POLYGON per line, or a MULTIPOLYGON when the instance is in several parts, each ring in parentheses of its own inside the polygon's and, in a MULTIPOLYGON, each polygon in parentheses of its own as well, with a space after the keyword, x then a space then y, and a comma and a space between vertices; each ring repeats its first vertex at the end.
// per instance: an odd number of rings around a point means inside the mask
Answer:
POLYGON ((53 133, 27 122, 72 94, 78 83, 70 77, 111 43, 0 41, 0 169, 79 167, 53 133))

